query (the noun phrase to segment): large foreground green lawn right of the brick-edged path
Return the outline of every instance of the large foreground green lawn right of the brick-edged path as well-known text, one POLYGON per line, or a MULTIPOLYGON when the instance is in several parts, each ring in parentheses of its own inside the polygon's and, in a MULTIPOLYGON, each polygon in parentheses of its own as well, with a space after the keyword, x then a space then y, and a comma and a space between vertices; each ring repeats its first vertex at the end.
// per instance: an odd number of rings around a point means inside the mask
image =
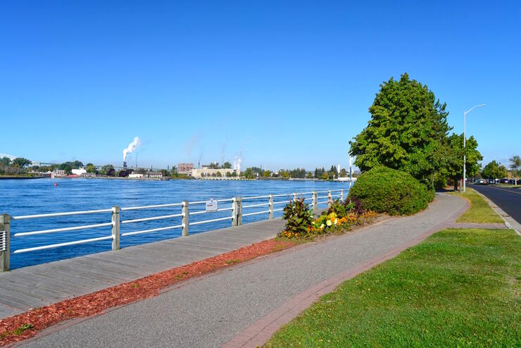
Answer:
POLYGON ((448 229, 344 282, 265 347, 520 347, 521 238, 448 229))

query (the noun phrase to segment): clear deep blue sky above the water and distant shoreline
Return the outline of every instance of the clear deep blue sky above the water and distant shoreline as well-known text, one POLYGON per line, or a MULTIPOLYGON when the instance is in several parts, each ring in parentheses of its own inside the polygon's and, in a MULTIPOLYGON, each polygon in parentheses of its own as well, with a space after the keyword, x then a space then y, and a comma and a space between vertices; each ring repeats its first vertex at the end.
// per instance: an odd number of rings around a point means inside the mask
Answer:
POLYGON ((139 136, 140 166, 346 166, 408 72, 456 132, 487 104, 484 163, 521 154, 519 1, 357 2, 1 1, 0 153, 118 165, 139 136))

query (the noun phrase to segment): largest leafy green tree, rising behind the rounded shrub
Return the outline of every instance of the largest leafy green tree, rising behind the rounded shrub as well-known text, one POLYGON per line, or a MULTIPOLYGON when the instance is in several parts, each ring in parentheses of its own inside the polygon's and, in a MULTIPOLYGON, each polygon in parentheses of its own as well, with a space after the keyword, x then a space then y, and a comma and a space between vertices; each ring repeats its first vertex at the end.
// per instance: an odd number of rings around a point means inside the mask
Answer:
POLYGON ((383 82, 369 108, 368 126, 349 142, 355 165, 365 171, 383 164, 431 182, 442 166, 440 150, 451 130, 445 108, 407 73, 383 82))

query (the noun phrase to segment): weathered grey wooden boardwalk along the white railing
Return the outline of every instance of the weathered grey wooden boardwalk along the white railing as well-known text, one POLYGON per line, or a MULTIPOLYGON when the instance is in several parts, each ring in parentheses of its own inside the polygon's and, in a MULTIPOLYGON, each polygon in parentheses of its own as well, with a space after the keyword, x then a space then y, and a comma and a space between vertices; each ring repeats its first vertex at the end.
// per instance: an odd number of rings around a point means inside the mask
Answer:
POLYGON ((0 272, 0 319, 268 240, 281 218, 0 272))

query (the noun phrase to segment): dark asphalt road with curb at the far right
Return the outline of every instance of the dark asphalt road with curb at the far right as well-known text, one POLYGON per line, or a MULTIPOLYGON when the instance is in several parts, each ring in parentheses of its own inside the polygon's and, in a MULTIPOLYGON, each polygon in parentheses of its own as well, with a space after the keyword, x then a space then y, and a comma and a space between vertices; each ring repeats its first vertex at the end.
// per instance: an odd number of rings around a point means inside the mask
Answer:
POLYGON ((518 223, 521 223, 521 189, 496 185, 472 185, 471 187, 487 196, 518 223))

